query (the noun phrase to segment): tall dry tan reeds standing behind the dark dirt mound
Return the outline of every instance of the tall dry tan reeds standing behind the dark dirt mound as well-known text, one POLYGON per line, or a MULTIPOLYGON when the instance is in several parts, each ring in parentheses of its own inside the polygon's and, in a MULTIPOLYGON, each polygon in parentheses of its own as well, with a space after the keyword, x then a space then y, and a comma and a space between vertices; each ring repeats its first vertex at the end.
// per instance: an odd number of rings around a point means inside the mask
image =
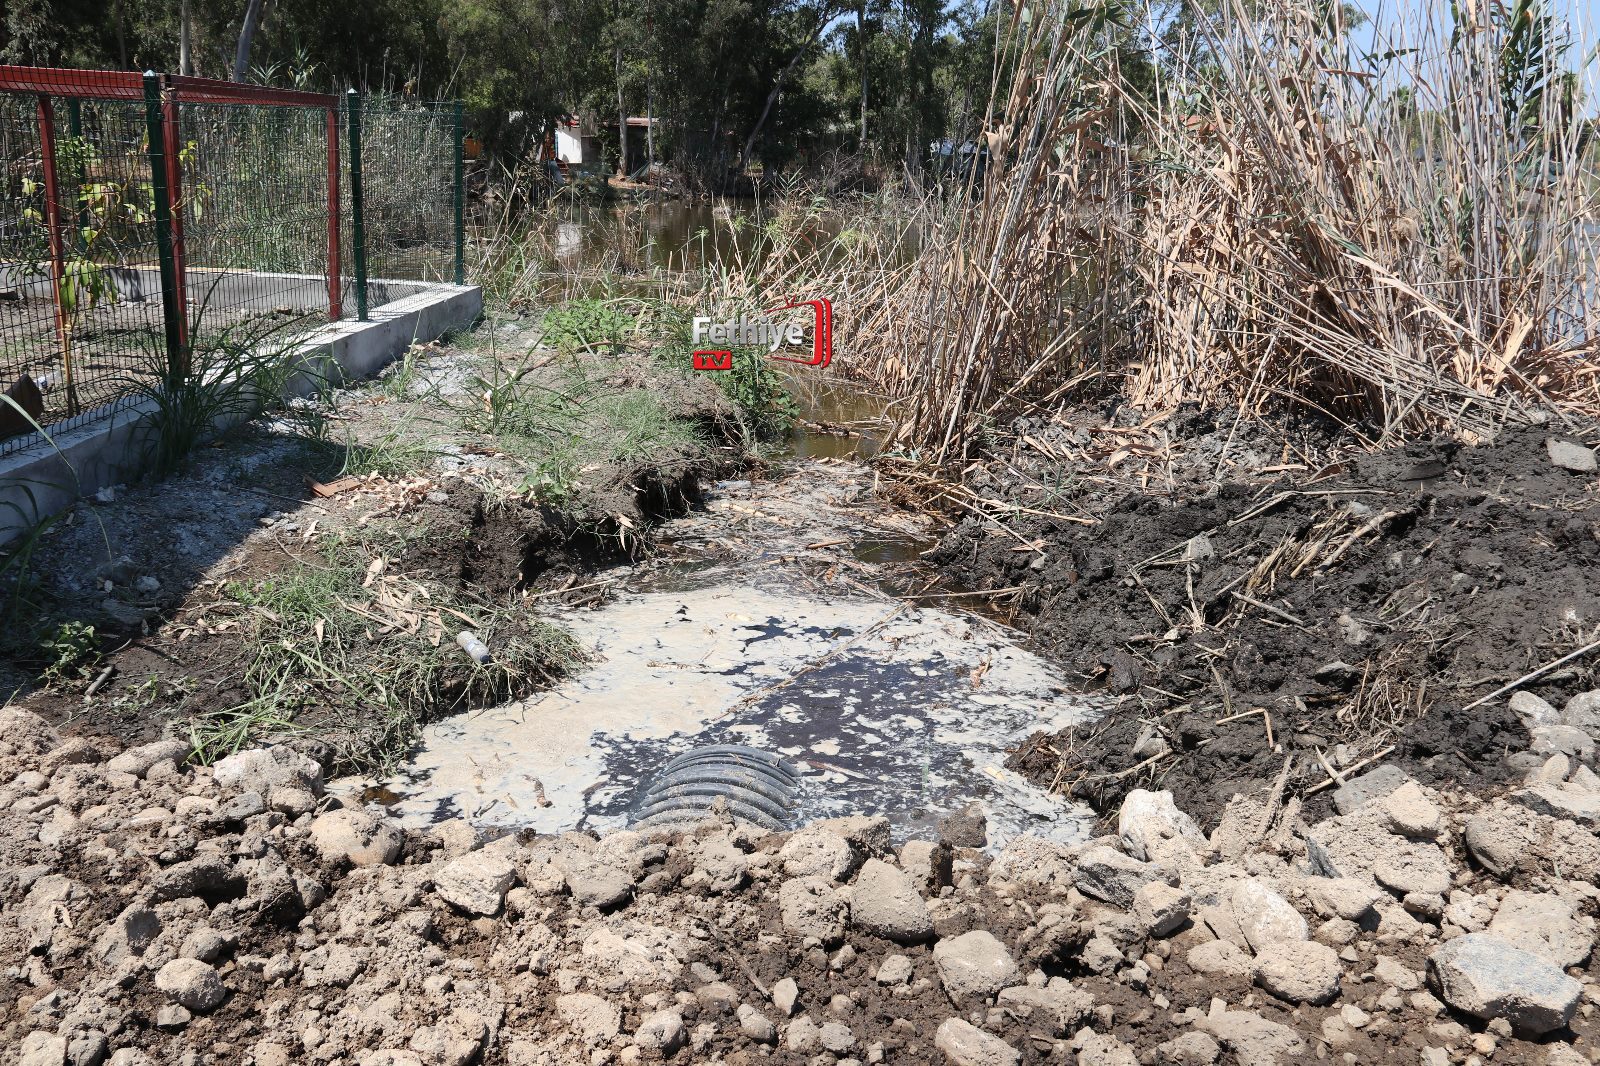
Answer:
POLYGON ((1338 5, 1227 0, 1136 91, 1107 11, 1027 11, 986 173, 830 242, 774 226, 688 298, 830 296, 838 363, 942 463, 1086 387, 1371 439, 1600 410, 1600 184, 1558 21, 1429 0, 1358 48, 1338 5))

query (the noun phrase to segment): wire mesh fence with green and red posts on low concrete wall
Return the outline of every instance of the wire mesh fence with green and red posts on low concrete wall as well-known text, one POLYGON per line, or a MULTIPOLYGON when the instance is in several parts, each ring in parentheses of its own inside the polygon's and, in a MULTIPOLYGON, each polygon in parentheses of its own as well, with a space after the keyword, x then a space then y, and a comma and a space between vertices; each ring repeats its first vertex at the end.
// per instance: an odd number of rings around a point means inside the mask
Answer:
POLYGON ((453 104, 0 66, 0 455, 462 280, 459 144, 453 104))

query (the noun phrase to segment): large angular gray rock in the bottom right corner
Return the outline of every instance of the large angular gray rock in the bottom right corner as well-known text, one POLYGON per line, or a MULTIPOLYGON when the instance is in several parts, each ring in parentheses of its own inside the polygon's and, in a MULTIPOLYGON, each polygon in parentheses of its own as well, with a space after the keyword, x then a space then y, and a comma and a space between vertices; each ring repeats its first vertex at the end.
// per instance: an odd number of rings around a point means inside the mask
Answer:
POLYGON ((1571 1023, 1582 994, 1582 984, 1552 962, 1491 933, 1467 933, 1435 948, 1427 975, 1440 999, 1456 1010, 1504 1018, 1530 1036, 1571 1023))

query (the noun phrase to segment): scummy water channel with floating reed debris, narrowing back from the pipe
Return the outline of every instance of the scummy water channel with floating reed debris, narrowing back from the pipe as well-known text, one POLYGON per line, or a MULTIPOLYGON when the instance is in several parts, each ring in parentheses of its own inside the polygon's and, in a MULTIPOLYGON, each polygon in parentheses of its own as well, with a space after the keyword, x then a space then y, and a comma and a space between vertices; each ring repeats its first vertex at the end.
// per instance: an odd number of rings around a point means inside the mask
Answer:
POLYGON ((898 839, 971 802, 989 845, 1074 840, 1086 812, 1005 768, 1035 730, 1098 714, 992 621, 947 608, 918 562, 923 519, 885 507, 853 458, 877 411, 806 397, 778 475, 731 480, 614 571, 598 608, 557 608, 594 661, 555 688, 429 725, 410 762, 346 794, 411 824, 466 816, 541 832, 629 824, 653 776, 707 744, 752 744, 802 771, 795 821, 883 813, 898 839))

